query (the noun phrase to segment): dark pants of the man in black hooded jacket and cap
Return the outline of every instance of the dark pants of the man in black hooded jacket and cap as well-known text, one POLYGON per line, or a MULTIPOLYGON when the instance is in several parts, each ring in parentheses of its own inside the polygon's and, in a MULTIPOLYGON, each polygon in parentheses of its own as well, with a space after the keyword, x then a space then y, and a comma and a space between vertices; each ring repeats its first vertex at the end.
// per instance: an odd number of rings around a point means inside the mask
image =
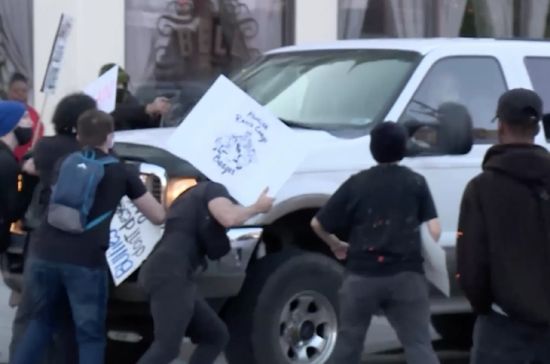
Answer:
POLYGON ((472 364, 550 364, 550 327, 532 326, 492 313, 479 316, 472 364))

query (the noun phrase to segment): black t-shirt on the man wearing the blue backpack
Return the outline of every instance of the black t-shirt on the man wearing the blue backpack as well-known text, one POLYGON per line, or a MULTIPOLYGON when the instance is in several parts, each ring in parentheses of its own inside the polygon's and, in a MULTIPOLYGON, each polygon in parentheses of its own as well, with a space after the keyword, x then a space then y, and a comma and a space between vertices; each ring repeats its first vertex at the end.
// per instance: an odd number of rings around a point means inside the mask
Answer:
MULTIPOLYGON (((100 151, 97 157, 105 156, 100 151)), ((97 186, 96 198, 89 221, 106 212, 115 212, 124 196, 135 200, 147 192, 135 166, 123 162, 105 166, 105 175, 97 186)), ((81 234, 71 234, 54 228, 43 221, 31 238, 31 255, 40 259, 82 265, 91 268, 105 267, 105 250, 109 246, 111 219, 81 234)))

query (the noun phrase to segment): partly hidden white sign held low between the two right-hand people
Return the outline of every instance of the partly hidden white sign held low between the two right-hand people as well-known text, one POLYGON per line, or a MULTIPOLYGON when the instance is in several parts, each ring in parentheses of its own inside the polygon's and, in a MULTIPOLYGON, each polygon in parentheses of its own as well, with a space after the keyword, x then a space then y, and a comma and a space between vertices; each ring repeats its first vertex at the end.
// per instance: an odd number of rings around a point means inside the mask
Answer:
POLYGON ((430 235, 426 224, 421 227, 422 256, 424 257, 424 274, 430 283, 446 297, 451 295, 447 255, 430 235))

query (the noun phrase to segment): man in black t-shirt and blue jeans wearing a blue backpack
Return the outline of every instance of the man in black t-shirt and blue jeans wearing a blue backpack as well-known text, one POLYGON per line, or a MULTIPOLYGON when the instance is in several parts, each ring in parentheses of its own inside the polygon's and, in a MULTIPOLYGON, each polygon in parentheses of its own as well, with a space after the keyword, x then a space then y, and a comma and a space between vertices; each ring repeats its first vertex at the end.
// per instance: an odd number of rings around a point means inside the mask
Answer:
MULTIPOLYGON (((99 158, 108 154, 113 130, 112 117, 97 110, 85 112, 77 122, 78 140, 99 158)), ((109 212, 112 218, 120 200, 128 196, 153 223, 164 222, 164 208, 147 192, 135 169, 117 162, 105 165, 104 172, 97 185, 88 221, 109 212)), ((108 294, 105 251, 109 244, 111 218, 103 219, 82 233, 59 230, 47 219, 42 222, 31 239, 29 272, 25 282, 25 289, 32 292, 33 319, 12 363, 40 361, 47 339, 57 326, 58 303, 64 294, 69 298, 75 324, 79 363, 103 363, 108 294)))

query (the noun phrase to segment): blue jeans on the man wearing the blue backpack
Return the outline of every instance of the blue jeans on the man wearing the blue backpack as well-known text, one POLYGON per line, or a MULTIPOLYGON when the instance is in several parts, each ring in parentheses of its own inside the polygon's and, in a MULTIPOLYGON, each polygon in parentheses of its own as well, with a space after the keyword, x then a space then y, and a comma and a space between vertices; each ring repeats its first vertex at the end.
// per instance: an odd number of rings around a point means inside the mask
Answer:
POLYGON ((35 259, 28 264, 25 289, 34 306, 33 319, 17 348, 12 364, 40 361, 57 329, 66 295, 75 324, 80 364, 102 364, 105 359, 107 271, 35 259))

